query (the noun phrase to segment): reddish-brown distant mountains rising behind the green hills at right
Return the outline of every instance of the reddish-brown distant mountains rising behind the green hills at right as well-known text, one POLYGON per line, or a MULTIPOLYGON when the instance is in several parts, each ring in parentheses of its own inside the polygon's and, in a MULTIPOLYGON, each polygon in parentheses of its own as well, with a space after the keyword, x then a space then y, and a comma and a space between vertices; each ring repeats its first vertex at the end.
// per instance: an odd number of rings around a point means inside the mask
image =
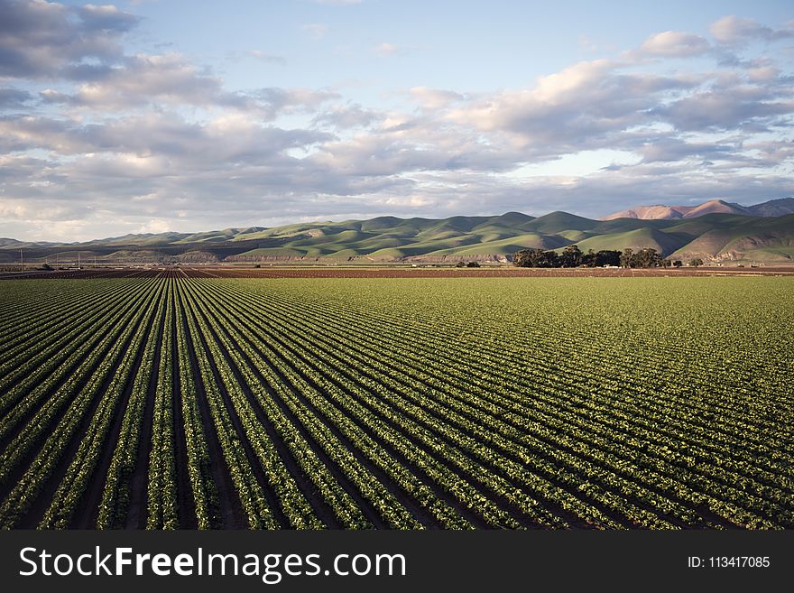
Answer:
POLYGON ((614 218, 642 218, 643 220, 676 220, 679 218, 696 218, 706 214, 721 212, 738 214, 748 217, 780 217, 794 214, 794 198, 771 199, 754 206, 742 206, 722 199, 710 199, 699 206, 635 206, 628 210, 615 212, 604 220, 614 218))

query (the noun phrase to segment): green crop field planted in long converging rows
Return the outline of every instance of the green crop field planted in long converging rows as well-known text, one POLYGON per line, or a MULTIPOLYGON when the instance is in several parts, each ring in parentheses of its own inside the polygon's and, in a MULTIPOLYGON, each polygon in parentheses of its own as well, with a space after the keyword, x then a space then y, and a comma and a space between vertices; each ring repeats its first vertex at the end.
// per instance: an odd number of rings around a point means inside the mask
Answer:
POLYGON ((159 275, 0 282, 0 526, 794 528, 789 277, 159 275))

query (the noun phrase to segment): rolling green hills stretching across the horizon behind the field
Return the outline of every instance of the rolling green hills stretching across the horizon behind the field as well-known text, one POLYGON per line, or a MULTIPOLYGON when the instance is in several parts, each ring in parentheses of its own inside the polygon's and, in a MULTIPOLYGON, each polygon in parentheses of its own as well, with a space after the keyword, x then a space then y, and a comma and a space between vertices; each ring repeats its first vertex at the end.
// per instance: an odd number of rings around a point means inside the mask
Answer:
MULTIPOLYGON (((794 200, 790 200, 794 201, 794 200)), ((593 249, 650 247, 674 259, 706 262, 794 263, 794 214, 750 216, 746 210, 782 211, 789 200, 744 208, 720 200, 690 207, 679 218, 593 220, 568 212, 532 218, 520 212, 493 217, 396 218, 313 222, 284 227, 225 228, 203 233, 161 233, 86 243, 20 243, 0 239, 0 262, 457 262, 507 261, 530 247, 593 249), (697 212, 700 216, 691 216, 697 212)), ((668 207, 658 207, 668 208, 668 207)))

